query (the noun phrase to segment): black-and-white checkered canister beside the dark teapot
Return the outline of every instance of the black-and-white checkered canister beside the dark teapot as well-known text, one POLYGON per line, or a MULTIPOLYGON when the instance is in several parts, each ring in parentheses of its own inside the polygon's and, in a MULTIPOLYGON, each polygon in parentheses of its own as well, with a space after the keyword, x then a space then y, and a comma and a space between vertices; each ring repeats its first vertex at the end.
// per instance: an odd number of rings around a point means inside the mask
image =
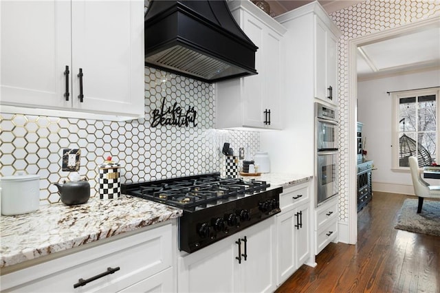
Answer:
POLYGON ((118 199, 121 197, 120 164, 105 161, 99 166, 99 198, 118 199))

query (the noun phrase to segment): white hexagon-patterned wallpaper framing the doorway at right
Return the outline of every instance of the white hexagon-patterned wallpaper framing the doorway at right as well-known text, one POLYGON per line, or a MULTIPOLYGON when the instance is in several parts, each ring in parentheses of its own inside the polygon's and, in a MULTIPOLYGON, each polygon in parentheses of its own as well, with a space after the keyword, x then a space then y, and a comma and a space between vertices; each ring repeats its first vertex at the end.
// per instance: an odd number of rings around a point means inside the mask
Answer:
POLYGON ((349 41, 406 23, 440 15, 440 1, 374 0, 333 12, 330 17, 342 31, 339 49, 340 107, 340 221, 349 219, 349 41))

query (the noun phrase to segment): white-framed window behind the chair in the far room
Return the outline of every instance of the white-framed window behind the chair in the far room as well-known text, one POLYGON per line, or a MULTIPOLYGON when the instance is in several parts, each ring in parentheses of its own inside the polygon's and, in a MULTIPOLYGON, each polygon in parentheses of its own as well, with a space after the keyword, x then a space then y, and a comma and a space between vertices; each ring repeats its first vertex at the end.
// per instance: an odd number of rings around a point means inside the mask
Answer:
POLYGON ((394 169, 409 169, 408 158, 417 156, 419 166, 437 162, 439 151, 439 89, 399 91, 394 104, 394 169))

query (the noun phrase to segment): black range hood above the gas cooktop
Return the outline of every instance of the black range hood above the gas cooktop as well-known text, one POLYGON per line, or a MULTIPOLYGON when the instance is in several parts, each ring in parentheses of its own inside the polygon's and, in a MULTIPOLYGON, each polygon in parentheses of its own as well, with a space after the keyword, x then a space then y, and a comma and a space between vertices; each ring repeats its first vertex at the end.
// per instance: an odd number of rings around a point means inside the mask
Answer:
POLYGON ((150 1, 146 66, 215 83, 257 74, 257 49, 223 0, 150 1))

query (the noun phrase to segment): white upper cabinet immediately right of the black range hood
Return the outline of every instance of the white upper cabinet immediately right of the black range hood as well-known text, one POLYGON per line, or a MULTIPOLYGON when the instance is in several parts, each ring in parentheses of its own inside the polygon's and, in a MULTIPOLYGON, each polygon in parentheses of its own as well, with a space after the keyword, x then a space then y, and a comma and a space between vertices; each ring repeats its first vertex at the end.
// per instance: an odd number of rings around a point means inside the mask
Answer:
POLYGON ((250 1, 228 1, 241 29, 259 47, 254 76, 216 85, 217 128, 282 129, 282 46, 285 28, 250 1))

